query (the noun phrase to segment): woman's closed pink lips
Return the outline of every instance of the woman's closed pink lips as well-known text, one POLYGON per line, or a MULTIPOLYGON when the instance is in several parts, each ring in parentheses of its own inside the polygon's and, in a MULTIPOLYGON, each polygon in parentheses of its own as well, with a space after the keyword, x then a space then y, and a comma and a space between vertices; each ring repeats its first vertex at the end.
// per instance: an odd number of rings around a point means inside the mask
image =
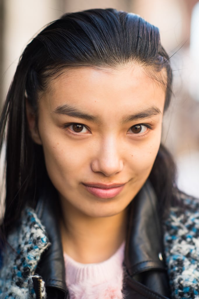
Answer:
POLYGON ((101 184, 101 183, 86 183, 83 184, 87 191, 99 198, 113 198, 117 196, 122 189, 124 184, 101 184))

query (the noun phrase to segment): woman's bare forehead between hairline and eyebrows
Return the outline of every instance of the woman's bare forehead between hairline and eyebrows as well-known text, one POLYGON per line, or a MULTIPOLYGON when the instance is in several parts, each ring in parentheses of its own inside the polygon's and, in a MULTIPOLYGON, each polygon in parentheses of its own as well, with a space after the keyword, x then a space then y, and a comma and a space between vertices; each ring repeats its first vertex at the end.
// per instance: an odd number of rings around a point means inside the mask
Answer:
POLYGON ((138 64, 68 68, 50 80, 42 97, 51 110, 69 103, 83 105, 95 113, 100 113, 103 107, 122 108, 122 112, 130 107, 136 110, 141 106, 157 106, 158 102, 161 109, 165 100, 164 76, 165 72, 156 72, 154 76, 152 70, 138 64))

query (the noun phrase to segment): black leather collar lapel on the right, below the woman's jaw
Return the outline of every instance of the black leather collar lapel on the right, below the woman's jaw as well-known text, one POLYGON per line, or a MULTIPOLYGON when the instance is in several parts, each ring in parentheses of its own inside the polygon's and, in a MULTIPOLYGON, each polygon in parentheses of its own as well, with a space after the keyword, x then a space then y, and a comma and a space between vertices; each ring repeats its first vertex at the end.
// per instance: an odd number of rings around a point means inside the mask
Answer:
POLYGON ((125 248, 125 266, 134 276, 150 269, 165 269, 157 197, 147 181, 132 200, 125 248))

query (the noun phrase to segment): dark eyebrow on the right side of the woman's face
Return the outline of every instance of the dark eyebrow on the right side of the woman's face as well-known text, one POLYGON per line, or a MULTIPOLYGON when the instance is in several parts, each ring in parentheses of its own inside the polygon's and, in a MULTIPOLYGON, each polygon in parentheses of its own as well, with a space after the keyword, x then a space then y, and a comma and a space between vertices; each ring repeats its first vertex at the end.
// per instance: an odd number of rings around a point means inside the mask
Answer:
POLYGON ((155 115, 161 114, 161 111, 158 107, 151 106, 146 108, 143 111, 137 112, 132 115, 127 115, 122 119, 122 123, 128 123, 129 121, 140 120, 144 118, 149 118, 155 115))

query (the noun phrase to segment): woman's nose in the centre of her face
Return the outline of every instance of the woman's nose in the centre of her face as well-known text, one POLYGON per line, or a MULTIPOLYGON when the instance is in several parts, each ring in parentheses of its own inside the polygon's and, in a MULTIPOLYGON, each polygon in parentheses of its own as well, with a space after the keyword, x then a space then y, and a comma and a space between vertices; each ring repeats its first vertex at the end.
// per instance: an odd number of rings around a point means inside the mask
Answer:
POLYGON ((117 138, 107 137, 101 141, 95 158, 92 159, 91 168, 94 172, 101 172, 105 176, 113 176, 123 170, 124 163, 120 154, 120 144, 117 138))

